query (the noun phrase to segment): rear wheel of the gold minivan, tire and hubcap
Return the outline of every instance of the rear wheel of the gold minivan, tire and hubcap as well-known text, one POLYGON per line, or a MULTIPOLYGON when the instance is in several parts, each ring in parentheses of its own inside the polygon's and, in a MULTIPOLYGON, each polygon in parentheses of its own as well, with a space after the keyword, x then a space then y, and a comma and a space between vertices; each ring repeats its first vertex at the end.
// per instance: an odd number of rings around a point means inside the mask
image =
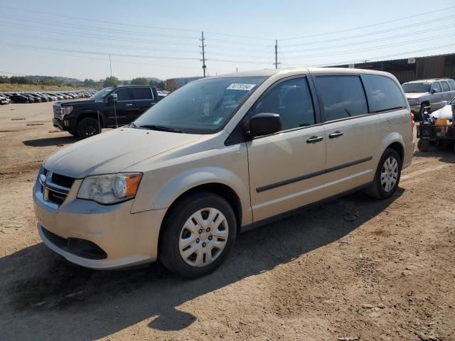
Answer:
POLYGON ((385 149, 376 169, 373 183, 366 192, 376 199, 387 199, 397 190, 400 183, 402 161, 392 148, 385 149))

